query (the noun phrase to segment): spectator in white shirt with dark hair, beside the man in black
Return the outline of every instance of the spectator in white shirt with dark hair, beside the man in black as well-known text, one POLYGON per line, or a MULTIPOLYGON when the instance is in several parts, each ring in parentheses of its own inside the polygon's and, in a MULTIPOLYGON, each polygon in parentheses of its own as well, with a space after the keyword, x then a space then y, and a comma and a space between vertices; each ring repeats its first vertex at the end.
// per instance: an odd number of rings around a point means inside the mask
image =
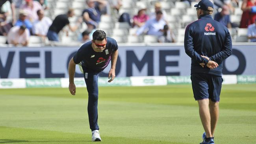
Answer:
POLYGON ((44 11, 39 9, 37 11, 38 20, 33 23, 32 33, 33 35, 38 35, 43 38, 46 37, 48 29, 52 24, 52 20, 44 16, 44 11))

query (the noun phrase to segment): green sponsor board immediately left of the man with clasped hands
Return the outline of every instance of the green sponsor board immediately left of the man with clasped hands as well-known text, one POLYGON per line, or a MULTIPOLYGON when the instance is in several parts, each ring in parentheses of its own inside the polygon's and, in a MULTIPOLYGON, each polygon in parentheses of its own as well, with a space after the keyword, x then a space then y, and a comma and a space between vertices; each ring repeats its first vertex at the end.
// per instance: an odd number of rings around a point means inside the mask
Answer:
POLYGON ((187 84, 191 83, 190 76, 167 76, 167 84, 187 84))

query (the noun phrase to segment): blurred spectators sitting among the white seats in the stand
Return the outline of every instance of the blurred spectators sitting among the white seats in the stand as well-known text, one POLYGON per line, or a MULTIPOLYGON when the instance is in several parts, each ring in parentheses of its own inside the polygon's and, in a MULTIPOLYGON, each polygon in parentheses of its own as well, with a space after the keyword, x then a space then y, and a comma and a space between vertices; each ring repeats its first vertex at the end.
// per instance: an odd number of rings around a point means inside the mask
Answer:
MULTIPOLYGON (((199 0, 181 0, 188 4, 199 0)), ((247 38, 256 42, 256 0, 243 0, 243 11, 240 24, 232 23, 230 15, 235 13, 235 7, 240 0, 211 0, 219 11, 213 15, 214 20, 221 22, 227 28, 248 28, 247 38)), ((30 35, 41 37, 43 40, 59 41, 59 32, 74 32, 81 28, 78 40, 83 43, 92 39, 92 33, 100 25, 102 15, 119 15, 122 0, 85 0, 86 7, 81 11, 80 18, 75 24, 70 24, 70 18, 75 15, 75 9, 67 9, 66 13, 55 18, 45 16, 49 11, 47 0, 1 0, 0 1, 0 35, 6 36, 6 44, 27 46, 30 35), (15 8, 16 7, 16 8, 15 8), (19 9, 19 10, 18 10, 19 9), (18 14, 16 17, 16 13, 18 14), (66 30, 65 26, 69 29, 66 30)), ((176 42, 176 37, 170 27, 166 9, 160 2, 154 3, 154 11, 149 12, 147 6, 137 7, 137 15, 122 13, 119 22, 127 22, 130 28, 135 28, 134 37, 154 35, 158 42, 176 42)), ((185 27, 186 28, 186 27, 185 27)), ((111 36, 111 35, 109 35, 111 36)))

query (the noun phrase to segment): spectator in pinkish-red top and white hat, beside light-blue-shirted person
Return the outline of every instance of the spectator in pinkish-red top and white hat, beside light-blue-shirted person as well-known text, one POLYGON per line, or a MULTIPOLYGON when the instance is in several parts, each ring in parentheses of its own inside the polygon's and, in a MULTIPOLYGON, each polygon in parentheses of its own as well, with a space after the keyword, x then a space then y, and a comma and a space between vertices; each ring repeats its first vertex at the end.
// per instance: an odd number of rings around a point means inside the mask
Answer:
POLYGON ((141 27, 145 24, 145 22, 149 19, 148 15, 146 14, 146 8, 141 7, 138 11, 138 15, 133 17, 133 26, 134 27, 141 27))

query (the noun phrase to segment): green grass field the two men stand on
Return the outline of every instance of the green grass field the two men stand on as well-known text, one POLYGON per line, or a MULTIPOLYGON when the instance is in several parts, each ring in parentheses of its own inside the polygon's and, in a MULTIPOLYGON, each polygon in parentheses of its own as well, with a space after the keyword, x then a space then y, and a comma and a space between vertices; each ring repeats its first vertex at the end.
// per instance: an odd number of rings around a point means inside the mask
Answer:
MULTIPOLYGON (((199 144, 191 85, 100 87, 102 144, 199 144)), ((87 144, 87 91, 0 89, 0 144, 87 144)), ((223 85, 215 144, 256 144, 256 84, 223 85)))

